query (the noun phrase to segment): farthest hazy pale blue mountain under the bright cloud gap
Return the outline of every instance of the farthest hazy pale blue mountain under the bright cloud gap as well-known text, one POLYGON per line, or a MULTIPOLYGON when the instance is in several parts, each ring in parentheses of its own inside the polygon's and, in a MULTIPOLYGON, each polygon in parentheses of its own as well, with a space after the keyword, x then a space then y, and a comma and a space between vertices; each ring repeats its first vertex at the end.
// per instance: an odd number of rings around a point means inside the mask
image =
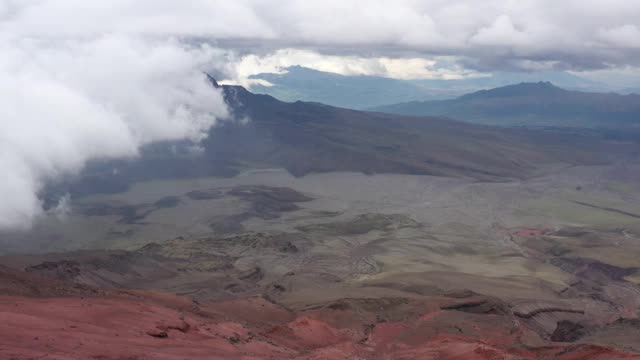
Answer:
POLYGON ((472 91, 519 83, 552 81, 564 88, 593 91, 604 85, 565 72, 500 72, 490 77, 460 80, 398 80, 378 76, 345 76, 292 66, 283 74, 263 73, 253 79, 272 86, 252 85, 251 91, 283 101, 316 101, 366 109, 407 101, 451 99, 472 91))

